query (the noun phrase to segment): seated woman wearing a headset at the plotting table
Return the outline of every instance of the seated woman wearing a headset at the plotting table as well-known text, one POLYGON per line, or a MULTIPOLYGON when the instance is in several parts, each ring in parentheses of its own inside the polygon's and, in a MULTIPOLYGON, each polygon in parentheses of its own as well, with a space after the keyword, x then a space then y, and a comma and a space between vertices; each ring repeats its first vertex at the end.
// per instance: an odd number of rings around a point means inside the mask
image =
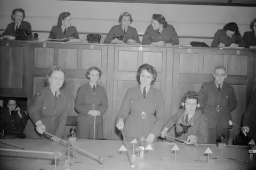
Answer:
POLYGON ((171 116, 163 128, 161 137, 175 126, 174 132, 178 139, 190 143, 207 143, 208 125, 204 115, 199 111, 198 93, 188 91, 181 100, 182 109, 171 116))

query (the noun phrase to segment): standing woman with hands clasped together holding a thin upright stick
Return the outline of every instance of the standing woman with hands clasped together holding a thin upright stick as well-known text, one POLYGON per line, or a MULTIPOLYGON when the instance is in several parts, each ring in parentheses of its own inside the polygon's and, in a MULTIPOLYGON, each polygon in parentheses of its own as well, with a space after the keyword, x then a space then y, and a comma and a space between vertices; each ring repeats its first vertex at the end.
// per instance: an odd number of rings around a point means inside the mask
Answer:
POLYGON ((89 83, 79 87, 75 99, 78 139, 103 138, 103 114, 108 109, 108 98, 104 87, 98 84, 102 71, 91 67, 86 72, 89 83))

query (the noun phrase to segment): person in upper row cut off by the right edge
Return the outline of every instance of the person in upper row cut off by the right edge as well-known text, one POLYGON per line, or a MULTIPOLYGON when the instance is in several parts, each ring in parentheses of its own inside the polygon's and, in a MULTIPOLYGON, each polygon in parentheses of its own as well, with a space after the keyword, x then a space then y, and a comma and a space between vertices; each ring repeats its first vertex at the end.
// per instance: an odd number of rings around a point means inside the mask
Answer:
POLYGON ((244 33, 244 43, 246 48, 256 48, 256 18, 250 23, 250 29, 244 33))

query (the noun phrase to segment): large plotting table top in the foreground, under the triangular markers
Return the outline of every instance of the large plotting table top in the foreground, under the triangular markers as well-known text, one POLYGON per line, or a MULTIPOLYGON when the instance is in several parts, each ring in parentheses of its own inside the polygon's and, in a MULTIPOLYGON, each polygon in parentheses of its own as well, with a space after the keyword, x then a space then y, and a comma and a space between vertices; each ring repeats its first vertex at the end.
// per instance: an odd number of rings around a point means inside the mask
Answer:
MULTIPOLYGON (((4 140, 13 144, 25 147, 25 150, 37 151, 59 151, 62 156, 58 159, 57 169, 64 170, 65 153, 67 147, 65 144, 54 143, 50 140, 28 140, 12 139, 4 140)), ((118 151, 122 146, 122 141, 115 140, 77 140, 77 147, 93 153, 103 158, 103 164, 75 152, 75 169, 131 169, 126 152, 118 151)), ((143 142, 145 146, 147 143, 143 142)), ((154 142, 153 150, 149 153, 145 151, 144 158, 139 158, 135 152, 136 160, 133 162, 133 169, 249 169, 253 163, 249 163, 249 147, 244 146, 227 146, 218 148, 215 145, 200 144, 198 147, 177 143, 178 148, 176 160, 172 148, 176 143, 154 142), (210 148, 213 153, 207 155, 205 150, 210 148)), ((137 148, 141 142, 134 145, 137 148)), ((18 149, 6 144, 0 143, 0 148, 18 149)), ((126 149, 133 152, 133 144, 127 143, 126 149)), ((38 153, 21 153, 0 151, 0 169, 54 169, 54 156, 38 153)))

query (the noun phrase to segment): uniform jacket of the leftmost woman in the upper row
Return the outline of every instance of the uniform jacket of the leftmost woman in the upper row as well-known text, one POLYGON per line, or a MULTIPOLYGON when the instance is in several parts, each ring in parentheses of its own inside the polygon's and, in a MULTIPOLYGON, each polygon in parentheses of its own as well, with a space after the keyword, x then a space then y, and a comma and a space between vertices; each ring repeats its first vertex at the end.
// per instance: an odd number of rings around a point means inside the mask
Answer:
MULTIPOLYGON (((29 25, 30 25, 29 22, 27 22, 27 21, 21 21, 20 26, 19 26, 19 29, 31 29, 31 27, 28 28, 29 25)), ((31 25, 30 25, 30 26, 31 26, 31 25)), ((18 34, 15 33, 15 29, 16 29, 16 28, 14 28, 14 27, 15 27, 15 22, 9 23, 9 25, 7 25, 7 27, 6 27, 5 31, 4 31, 4 33, 3 33, 0 37, 2 37, 2 36, 4 36, 4 35, 12 35, 12 36, 14 36, 14 37, 17 37, 18 34)), ((29 35, 29 38, 32 38, 32 37, 33 37, 33 33, 32 33, 32 31, 31 31, 31 33, 30 33, 30 35, 29 35)))

